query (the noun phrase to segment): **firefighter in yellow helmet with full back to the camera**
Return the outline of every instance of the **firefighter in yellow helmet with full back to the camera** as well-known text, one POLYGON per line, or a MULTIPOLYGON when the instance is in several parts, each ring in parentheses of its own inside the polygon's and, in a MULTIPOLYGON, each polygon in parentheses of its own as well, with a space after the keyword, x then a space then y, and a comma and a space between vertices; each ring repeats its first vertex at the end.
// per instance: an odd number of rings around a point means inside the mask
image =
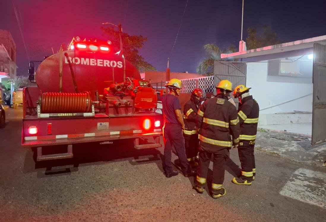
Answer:
POLYGON ((216 86, 217 95, 206 100, 198 111, 197 127, 199 134, 199 169, 195 189, 204 192, 207 171, 213 154, 212 197, 226 194, 223 187, 224 166, 232 146, 238 146, 240 126, 235 106, 228 101, 232 92, 231 82, 222 80, 216 86), (231 139, 232 135, 232 139, 231 139))

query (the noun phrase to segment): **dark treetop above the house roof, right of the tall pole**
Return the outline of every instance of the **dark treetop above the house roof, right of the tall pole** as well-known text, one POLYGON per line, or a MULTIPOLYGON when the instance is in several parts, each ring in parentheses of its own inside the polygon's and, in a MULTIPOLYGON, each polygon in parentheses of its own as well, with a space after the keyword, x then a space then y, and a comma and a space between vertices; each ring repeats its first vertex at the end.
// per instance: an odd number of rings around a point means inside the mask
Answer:
POLYGON ((261 34, 258 33, 257 28, 249 27, 247 29, 248 37, 246 39, 247 50, 257 49, 269 45, 280 44, 281 41, 277 39, 276 33, 271 26, 263 25, 261 34))

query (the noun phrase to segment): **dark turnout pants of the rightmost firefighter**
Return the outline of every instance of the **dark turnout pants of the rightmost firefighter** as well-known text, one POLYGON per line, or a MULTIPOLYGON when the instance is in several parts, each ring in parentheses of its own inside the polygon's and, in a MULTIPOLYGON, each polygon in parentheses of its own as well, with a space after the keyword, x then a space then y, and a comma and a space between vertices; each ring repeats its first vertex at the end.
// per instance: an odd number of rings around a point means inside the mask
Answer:
POLYGON ((256 175, 254 148, 254 142, 240 141, 238 153, 241 162, 241 177, 246 180, 252 180, 256 175))

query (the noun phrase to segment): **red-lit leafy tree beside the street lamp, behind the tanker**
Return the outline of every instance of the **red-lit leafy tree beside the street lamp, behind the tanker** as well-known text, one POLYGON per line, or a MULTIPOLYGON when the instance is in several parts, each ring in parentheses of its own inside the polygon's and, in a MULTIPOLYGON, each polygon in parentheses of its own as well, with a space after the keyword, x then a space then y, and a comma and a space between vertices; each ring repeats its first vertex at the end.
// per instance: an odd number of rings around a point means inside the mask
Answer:
MULTIPOLYGON (((120 38, 119 31, 115 30, 114 27, 104 28, 101 27, 103 33, 108 36, 112 42, 112 46, 115 52, 120 50, 120 38)), ((130 36, 127 33, 121 33, 123 55, 131 62, 139 71, 156 71, 155 67, 144 60, 144 57, 139 55, 139 49, 142 48, 147 37, 130 36)))

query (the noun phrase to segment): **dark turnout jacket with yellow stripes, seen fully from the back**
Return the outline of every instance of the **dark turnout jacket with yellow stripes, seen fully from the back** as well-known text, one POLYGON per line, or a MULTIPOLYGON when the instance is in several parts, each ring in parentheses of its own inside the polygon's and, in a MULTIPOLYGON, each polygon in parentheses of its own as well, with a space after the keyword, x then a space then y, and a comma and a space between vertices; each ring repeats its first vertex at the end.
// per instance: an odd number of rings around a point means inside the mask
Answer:
POLYGON ((223 94, 206 100, 198 110, 200 150, 216 152, 239 143, 240 125, 237 110, 223 94), (231 139, 231 135, 232 138, 231 139))

